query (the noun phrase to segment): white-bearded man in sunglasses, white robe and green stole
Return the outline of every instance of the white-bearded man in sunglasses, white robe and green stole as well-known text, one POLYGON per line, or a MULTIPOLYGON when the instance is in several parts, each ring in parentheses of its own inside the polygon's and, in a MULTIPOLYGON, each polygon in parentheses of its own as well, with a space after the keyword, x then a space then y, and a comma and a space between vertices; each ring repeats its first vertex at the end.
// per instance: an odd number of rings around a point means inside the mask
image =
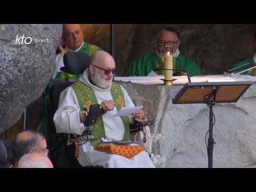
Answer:
MULTIPOLYGON (((114 116, 120 107, 134 107, 125 89, 113 82, 115 71, 115 61, 109 53, 96 51, 92 54, 90 66, 83 76, 60 94, 59 107, 53 117, 56 131, 82 135, 86 118, 83 108, 89 109, 93 104, 100 104, 100 115, 92 125, 93 135, 88 135, 91 140, 86 142, 84 138, 79 142, 79 146, 77 145, 79 164, 113 168, 155 167, 148 155, 151 153, 151 135, 148 127, 147 142, 140 143, 144 150, 131 158, 94 150, 94 147, 100 144, 101 137, 116 141, 129 140, 130 123, 146 119, 143 109, 135 111, 132 116, 114 116)), ((139 135, 139 142, 142 138, 143 135, 139 135)))

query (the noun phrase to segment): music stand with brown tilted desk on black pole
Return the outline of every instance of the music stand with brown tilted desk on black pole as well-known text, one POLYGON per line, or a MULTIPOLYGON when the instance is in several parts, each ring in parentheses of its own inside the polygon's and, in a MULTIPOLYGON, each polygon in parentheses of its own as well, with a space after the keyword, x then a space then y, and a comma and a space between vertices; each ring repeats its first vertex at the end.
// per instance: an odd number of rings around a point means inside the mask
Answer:
POLYGON ((173 104, 206 103, 210 108, 209 138, 207 146, 208 168, 212 168, 213 159, 213 110, 215 103, 237 102, 244 92, 252 85, 246 82, 202 82, 187 83, 172 98, 173 104))

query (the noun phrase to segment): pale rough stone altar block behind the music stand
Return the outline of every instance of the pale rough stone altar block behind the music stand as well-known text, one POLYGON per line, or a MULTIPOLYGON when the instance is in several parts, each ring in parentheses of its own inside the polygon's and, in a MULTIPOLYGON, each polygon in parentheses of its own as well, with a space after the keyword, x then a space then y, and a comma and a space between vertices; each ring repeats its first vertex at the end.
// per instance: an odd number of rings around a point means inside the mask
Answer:
MULTIPOLYGON (((165 136, 153 145, 153 153, 166 158, 165 167, 208 167, 206 104, 173 105, 169 92, 182 86, 120 84, 135 105, 145 106, 148 119, 155 122, 151 132, 165 136)), ((213 106, 213 167, 256 167, 255 108, 256 84, 238 102, 213 106)))

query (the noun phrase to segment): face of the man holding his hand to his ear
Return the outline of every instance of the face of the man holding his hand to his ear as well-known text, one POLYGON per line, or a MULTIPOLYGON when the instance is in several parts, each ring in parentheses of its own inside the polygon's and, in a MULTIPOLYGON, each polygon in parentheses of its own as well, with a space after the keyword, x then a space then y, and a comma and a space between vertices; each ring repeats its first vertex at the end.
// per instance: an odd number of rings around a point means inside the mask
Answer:
POLYGON ((79 24, 63 24, 62 38, 68 49, 75 51, 84 41, 83 30, 79 24))

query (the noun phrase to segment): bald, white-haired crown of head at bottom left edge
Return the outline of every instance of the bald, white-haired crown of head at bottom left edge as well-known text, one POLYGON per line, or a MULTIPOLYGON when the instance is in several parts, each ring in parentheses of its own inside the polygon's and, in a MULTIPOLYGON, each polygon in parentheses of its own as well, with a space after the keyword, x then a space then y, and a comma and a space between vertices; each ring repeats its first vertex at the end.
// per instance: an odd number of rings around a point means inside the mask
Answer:
POLYGON ((53 165, 48 157, 38 153, 30 153, 20 158, 18 168, 53 168, 53 165))

